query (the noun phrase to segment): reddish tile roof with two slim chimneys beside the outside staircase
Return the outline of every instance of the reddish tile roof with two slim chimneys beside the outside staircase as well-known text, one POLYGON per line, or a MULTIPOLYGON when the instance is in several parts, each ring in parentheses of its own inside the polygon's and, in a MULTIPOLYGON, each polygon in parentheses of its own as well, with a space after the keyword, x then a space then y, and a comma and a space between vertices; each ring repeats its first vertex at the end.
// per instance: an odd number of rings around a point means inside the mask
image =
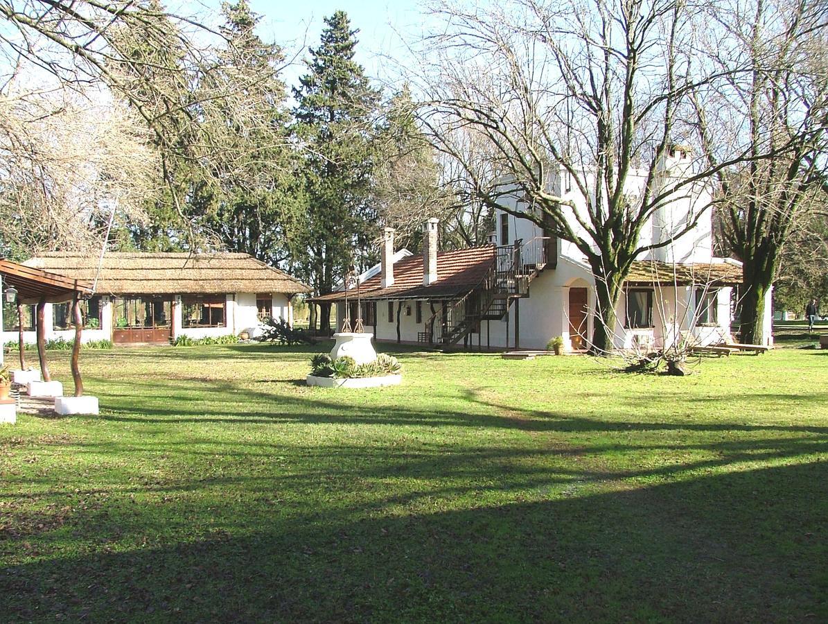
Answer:
MULTIPOLYGON (((394 263, 394 283, 380 288, 381 275, 359 287, 363 299, 451 299, 462 297, 479 285, 494 264, 494 245, 441 251, 437 254, 437 281, 423 286, 422 255, 415 254, 394 263)), ((354 297, 356 290, 348 291, 354 297)), ((343 301, 345 293, 330 293, 313 301, 343 301)))

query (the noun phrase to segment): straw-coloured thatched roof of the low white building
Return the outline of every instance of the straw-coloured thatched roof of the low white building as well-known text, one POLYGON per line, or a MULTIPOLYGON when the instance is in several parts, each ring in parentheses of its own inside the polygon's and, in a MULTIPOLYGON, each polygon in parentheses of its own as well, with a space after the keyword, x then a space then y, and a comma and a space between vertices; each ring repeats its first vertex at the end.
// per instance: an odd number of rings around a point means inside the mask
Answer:
MULTIPOLYGON (((94 281, 99 258, 53 252, 26 260, 67 278, 94 281)), ((248 254, 107 253, 99 294, 310 293, 310 287, 248 254)))

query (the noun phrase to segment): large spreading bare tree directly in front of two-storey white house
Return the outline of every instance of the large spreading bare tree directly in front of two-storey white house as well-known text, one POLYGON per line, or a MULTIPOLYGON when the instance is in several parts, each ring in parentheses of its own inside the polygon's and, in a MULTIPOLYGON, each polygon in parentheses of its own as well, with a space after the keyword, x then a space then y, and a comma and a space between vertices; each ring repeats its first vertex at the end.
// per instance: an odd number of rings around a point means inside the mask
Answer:
POLYGON ((700 154, 691 95, 724 80, 697 58, 705 17, 683 0, 514 0, 467 10, 452 3, 436 14, 445 28, 429 41, 437 59, 425 114, 433 140, 465 168, 485 203, 584 254, 603 319, 592 344, 606 351, 633 261, 696 226, 716 172, 768 156, 733 137, 718 162, 697 158, 678 172, 666 166, 676 143, 700 154), (465 162, 452 141, 459 128, 486 138, 489 170, 502 174, 497 184, 465 162), (580 200, 550 184, 559 174, 580 200), (514 196, 535 210, 505 201, 514 196), (658 210, 681 202, 681 225, 661 239, 642 236, 658 210))

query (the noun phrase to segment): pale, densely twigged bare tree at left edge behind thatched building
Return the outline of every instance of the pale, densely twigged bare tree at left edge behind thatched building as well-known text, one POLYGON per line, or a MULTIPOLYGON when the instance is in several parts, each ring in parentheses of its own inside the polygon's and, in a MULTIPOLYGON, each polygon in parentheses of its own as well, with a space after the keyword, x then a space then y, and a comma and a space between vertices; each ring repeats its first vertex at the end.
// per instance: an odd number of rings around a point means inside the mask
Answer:
POLYGON ((113 220, 140 222, 160 179, 148 134, 127 109, 75 92, 0 95, 3 252, 99 249, 113 220))

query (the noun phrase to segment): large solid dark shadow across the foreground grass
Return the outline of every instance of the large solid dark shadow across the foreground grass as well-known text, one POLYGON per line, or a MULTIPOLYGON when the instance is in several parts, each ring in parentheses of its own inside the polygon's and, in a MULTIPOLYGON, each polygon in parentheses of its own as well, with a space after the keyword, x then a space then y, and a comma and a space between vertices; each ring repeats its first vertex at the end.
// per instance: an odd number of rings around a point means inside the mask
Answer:
MULTIPOLYGON (((194 539, 125 552, 93 539, 0 569, 4 617, 819 621, 828 510, 814 487, 826 482, 815 462, 404 514, 227 501, 229 524, 194 526, 194 539)), ((135 513, 155 535, 156 510, 135 513)), ((120 519, 95 520, 105 534, 120 519)))

